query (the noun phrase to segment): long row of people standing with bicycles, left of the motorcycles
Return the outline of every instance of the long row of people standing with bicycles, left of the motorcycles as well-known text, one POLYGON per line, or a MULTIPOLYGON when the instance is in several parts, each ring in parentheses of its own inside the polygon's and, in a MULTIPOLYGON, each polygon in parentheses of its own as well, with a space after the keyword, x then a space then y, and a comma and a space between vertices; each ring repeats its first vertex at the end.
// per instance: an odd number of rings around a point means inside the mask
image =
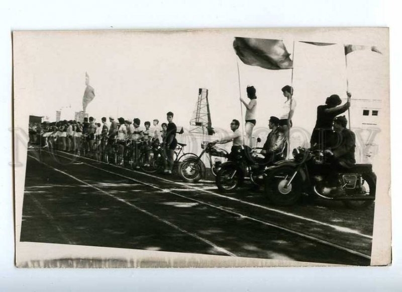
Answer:
MULTIPOLYGON (((166 156, 165 173, 172 173, 174 150, 177 146, 177 127, 173 123, 173 113, 166 114, 167 123, 159 125, 159 120, 146 121, 142 127, 138 118, 133 120, 123 117, 115 120, 113 116, 102 117, 96 122, 93 117, 84 118, 83 122, 63 120, 58 122, 30 123, 30 143, 41 144, 43 148, 57 149, 76 155, 96 152, 99 156, 107 152, 108 145, 117 145, 118 153, 123 155, 128 143, 132 146, 132 160, 135 168, 139 167, 140 152, 144 147, 152 149, 152 145, 162 145, 166 156)), ((146 151, 146 160, 149 151, 146 151)), ((123 160, 120 161, 123 164, 123 160)), ((147 162, 145 162, 147 163, 147 162)))

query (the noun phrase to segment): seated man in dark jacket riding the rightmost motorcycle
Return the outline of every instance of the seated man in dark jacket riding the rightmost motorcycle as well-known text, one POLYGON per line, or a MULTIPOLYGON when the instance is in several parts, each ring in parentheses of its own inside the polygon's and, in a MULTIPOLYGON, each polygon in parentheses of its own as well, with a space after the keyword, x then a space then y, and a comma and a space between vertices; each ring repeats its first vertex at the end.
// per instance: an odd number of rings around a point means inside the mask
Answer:
POLYGON ((324 193, 330 191, 331 196, 345 194, 345 191, 338 183, 338 172, 345 171, 356 163, 356 136, 351 130, 346 128, 347 123, 348 121, 345 116, 339 116, 334 119, 335 143, 324 152, 330 163, 330 170, 327 174, 327 182, 329 183, 330 190, 324 188, 324 193))

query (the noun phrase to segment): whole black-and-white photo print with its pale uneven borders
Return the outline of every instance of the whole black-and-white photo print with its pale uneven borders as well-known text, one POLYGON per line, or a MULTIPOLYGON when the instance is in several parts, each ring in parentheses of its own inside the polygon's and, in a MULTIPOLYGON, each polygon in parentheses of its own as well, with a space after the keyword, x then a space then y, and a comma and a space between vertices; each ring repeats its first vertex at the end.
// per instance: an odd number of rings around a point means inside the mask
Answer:
POLYGON ((386 28, 21 31, 13 58, 17 266, 390 262, 386 28))

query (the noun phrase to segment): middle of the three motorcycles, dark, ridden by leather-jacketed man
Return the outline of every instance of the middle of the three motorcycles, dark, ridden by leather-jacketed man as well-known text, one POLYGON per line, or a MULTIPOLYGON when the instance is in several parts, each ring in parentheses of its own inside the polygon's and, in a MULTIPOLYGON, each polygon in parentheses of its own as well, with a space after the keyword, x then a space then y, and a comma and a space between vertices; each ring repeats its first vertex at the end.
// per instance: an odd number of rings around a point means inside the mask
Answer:
MULTIPOLYGON (((261 141, 257 138, 257 144, 261 141)), ((245 148, 239 150, 228 162, 224 163, 216 177, 216 185, 221 192, 236 190, 246 178, 249 178, 255 187, 260 187, 264 182, 265 164, 263 156, 257 153, 260 147, 245 148)))

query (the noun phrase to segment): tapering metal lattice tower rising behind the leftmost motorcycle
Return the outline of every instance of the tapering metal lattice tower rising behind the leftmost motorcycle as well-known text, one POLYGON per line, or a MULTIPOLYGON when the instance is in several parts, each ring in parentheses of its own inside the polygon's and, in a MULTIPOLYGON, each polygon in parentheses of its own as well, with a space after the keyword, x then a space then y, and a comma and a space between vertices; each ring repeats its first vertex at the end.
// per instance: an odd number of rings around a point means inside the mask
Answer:
POLYGON ((208 103, 208 89, 199 88, 198 98, 192 118, 190 119, 190 132, 201 134, 214 134, 211 122, 210 105, 208 103))

